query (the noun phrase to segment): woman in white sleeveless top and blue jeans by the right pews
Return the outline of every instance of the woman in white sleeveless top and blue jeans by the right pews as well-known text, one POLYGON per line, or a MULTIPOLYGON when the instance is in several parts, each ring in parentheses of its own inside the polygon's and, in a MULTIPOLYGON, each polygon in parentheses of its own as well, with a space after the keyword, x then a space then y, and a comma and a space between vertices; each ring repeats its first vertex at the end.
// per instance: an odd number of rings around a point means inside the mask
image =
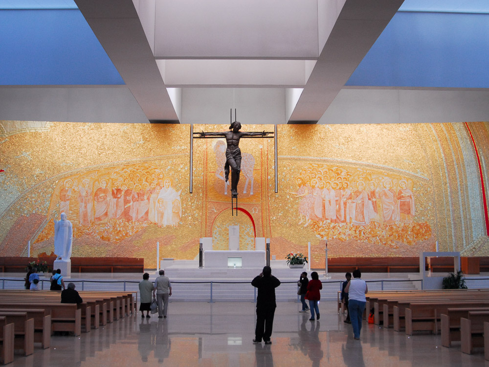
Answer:
POLYGON ((362 329, 363 311, 365 311, 365 294, 368 292, 367 283, 360 279, 362 274, 358 269, 353 271, 353 279, 347 284, 345 292, 348 293, 348 312, 352 321, 353 335, 356 340, 360 340, 362 329))

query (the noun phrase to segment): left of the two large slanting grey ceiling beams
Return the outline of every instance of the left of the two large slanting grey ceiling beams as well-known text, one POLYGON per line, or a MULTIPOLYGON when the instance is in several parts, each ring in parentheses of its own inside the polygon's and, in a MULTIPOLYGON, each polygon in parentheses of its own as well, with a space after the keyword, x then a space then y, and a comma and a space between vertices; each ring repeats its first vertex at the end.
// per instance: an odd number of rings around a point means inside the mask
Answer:
POLYGON ((75 0, 151 122, 178 122, 132 0, 75 0))

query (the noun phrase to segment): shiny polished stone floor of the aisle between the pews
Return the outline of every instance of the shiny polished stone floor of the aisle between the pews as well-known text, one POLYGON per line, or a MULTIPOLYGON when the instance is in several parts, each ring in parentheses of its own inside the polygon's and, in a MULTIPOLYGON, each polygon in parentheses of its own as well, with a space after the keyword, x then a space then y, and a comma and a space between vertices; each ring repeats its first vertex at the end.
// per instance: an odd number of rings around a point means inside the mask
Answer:
MULTIPOLYGON (((272 344, 253 344, 255 305, 248 302, 171 302, 168 318, 140 314, 80 337, 53 336, 51 347, 16 354, 10 366, 485 366, 481 351, 441 346, 440 335, 412 337, 364 322, 353 339, 335 302, 321 302, 309 321, 295 302, 279 302, 272 344)), ((489 364, 489 362, 488 362, 489 364)))

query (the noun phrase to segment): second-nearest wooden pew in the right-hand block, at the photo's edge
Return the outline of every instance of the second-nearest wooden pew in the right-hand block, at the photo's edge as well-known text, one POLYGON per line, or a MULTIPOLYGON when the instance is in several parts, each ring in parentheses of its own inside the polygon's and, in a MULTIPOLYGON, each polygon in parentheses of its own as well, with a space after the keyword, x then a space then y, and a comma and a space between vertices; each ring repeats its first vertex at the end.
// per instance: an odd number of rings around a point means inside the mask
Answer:
POLYGON ((470 311, 467 319, 460 319, 460 346, 463 353, 472 354, 474 346, 484 346, 484 322, 488 321, 489 311, 470 311))

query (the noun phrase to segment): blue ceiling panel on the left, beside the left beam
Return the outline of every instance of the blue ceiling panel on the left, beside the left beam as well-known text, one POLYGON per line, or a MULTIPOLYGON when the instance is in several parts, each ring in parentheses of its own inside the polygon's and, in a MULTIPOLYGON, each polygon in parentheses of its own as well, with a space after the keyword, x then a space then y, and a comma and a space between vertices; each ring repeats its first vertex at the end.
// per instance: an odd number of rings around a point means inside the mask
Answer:
POLYGON ((0 10, 0 85, 124 84, 78 9, 0 10))

